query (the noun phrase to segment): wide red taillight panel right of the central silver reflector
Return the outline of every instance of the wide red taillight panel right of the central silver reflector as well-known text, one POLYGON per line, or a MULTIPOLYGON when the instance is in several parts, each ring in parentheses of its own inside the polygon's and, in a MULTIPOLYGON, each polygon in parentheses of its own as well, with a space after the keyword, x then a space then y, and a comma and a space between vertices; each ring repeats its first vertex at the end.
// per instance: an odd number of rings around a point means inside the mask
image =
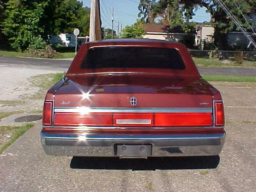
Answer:
POLYGON ((154 122, 165 127, 212 126, 212 113, 156 113, 154 122))

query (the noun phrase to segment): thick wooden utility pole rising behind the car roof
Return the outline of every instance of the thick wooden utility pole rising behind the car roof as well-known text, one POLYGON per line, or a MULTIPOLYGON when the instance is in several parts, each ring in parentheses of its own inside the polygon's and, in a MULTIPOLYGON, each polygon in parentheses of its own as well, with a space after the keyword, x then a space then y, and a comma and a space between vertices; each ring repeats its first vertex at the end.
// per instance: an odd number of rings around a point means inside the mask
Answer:
POLYGON ((100 0, 91 0, 90 41, 101 40, 100 0))

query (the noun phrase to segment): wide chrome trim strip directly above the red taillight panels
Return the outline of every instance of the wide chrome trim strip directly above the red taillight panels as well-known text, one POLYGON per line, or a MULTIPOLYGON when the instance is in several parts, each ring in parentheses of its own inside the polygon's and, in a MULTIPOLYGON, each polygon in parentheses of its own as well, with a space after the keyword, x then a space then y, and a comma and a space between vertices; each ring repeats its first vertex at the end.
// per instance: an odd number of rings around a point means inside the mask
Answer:
POLYGON ((54 112, 64 113, 212 113, 212 108, 87 108, 55 107, 54 112))

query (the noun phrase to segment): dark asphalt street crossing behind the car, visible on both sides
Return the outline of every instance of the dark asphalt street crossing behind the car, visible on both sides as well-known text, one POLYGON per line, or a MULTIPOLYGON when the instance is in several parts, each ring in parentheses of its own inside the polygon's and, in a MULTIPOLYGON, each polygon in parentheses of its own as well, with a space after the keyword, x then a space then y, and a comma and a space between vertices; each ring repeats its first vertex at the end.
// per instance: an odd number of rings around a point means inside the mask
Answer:
MULTIPOLYGON (((0 67, 30 67, 32 69, 67 71, 71 64, 70 60, 55 59, 38 59, 38 58, 21 58, 21 57, 0 57, 0 67)), ((200 74, 212 75, 244 75, 256 76, 256 68, 222 68, 222 67, 199 67, 200 74)))

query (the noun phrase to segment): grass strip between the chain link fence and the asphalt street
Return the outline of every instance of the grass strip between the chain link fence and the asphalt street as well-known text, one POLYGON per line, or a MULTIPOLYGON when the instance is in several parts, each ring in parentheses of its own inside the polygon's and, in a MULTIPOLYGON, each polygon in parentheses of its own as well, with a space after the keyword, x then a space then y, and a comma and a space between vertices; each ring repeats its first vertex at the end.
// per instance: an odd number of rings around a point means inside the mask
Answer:
POLYGON ((255 61, 247 61, 244 60, 243 64, 238 64, 235 61, 219 61, 212 58, 210 60, 209 58, 197 58, 193 57, 193 60, 197 66, 201 67, 208 67, 208 66, 250 66, 250 67, 256 67, 255 61))

